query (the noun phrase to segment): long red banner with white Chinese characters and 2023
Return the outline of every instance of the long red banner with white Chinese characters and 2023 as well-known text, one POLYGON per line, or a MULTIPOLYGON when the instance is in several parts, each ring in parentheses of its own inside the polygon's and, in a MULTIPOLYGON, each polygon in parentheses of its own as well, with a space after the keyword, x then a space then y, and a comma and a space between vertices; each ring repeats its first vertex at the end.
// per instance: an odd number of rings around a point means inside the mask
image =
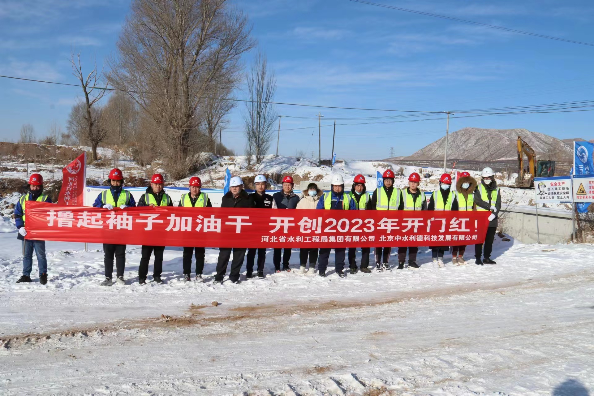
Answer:
POLYGON ((27 239, 217 248, 348 248, 482 243, 488 211, 106 210, 27 203, 27 239))

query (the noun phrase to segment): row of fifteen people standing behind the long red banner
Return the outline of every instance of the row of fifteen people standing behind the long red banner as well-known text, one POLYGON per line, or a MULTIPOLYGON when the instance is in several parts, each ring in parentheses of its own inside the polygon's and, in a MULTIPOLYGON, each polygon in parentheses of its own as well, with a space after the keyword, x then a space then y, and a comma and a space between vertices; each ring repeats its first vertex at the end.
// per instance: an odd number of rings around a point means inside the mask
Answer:
MULTIPOLYGON (((477 265, 496 264, 491 259, 492 243, 497 229, 497 216, 501 209, 501 192, 497 186, 493 170, 486 167, 482 170, 481 181, 477 182, 470 173, 462 172, 456 180, 455 188, 452 188, 451 175, 441 175, 437 191, 431 194, 429 202, 425 199, 425 193, 419 188, 421 176, 413 172, 408 177, 408 186, 403 189, 394 187, 394 172, 390 169, 383 173, 383 186, 375 189, 372 194, 365 191, 365 177, 357 175, 353 179, 350 192, 345 191, 345 181, 342 175, 333 175, 331 179, 331 191, 323 192, 316 183, 309 183, 307 191, 302 196, 295 194, 293 188, 294 180, 291 176, 285 176, 282 180, 282 191, 274 195, 266 194, 268 180, 264 175, 258 175, 254 179, 255 191, 248 194, 244 189, 244 182, 239 176, 230 179, 229 192, 223 195, 221 207, 223 208, 273 208, 273 209, 320 209, 320 210, 483 210, 491 211, 489 216, 489 227, 486 232, 484 243, 475 245, 475 263, 477 265)), ((125 209, 133 206, 173 206, 173 201, 163 189, 163 175, 155 173, 147 187, 146 192, 138 199, 138 204, 129 191, 123 188, 124 175, 119 169, 112 169, 109 173, 109 189, 101 192, 95 199, 93 206, 112 210, 115 207, 125 209)), ((208 194, 201 191, 202 182, 200 178, 189 179, 188 192, 183 194, 179 206, 204 208, 212 207, 208 194)), ((43 178, 38 173, 31 175, 29 179, 29 191, 21 196, 14 211, 15 224, 18 228, 18 239, 23 242, 23 276, 17 283, 31 282, 30 274, 33 267, 33 251, 37 255, 39 265, 39 281, 46 284, 48 281, 48 264, 45 256, 45 242, 42 240, 29 240, 24 237, 27 231, 25 224, 25 207, 27 201, 51 202, 48 195, 43 194, 43 178)), ((390 270, 389 258, 391 248, 375 249, 375 270, 390 270)), ((142 246, 141 259, 138 267, 138 283, 146 284, 149 273, 149 261, 154 255, 153 282, 162 284, 161 277, 163 270, 163 251, 165 246, 142 246)), ((369 256, 371 248, 361 248, 361 262, 359 268, 356 263, 357 248, 348 249, 348 263, 350 274, 359 270, 363 273, 371 273, 369 268, 369 256)), ((449 251, 450 246, 432 246, 432 261, 436 267, 444 266, 444 252, 449 251)), ((454 265, 468 264, 463 257, 466 246, 451 246, 452 262, 454 265)), ((112 243, 103 244, 105 280, 102 286, 113 284, 113 262, 116 265, 116 283, 125 284, 124 269, 126 262, 126 245, 112 243)), ((254 277, 254 264, 257 258, 257 277, 264 278, 264 262, 266 260, 266 248, 219 248, 215 283, 222 283, 227 272, 229 259, 231 268, 229 280, 233 283, 239 282, 244 258, 247 252, 246 277, 254 277)), ((289 261, 291 249, 275 248, 273 251, 274 270, 291 271, 289 261)), ((299 249, 299 274, 315 274, 315 265, 318 267, 318 275, 326 276, 330 248, 302 248, 299 249), (307 264, 309 261, 309 269, 307 264)), ((410 246, 398 248, 398 270, 405 268, 406 254, 408 252, 408 267, 419 268, 416 264, 418 247, 410 246)), ((203 280, 204 270, 204 246, 184 247, 183 271, 184 280, 191 281, 192 255, 195 256, 195 280, 203 280)), ((346 248, 334 249, 335 271, 339 277, 345 277, 346 248)))

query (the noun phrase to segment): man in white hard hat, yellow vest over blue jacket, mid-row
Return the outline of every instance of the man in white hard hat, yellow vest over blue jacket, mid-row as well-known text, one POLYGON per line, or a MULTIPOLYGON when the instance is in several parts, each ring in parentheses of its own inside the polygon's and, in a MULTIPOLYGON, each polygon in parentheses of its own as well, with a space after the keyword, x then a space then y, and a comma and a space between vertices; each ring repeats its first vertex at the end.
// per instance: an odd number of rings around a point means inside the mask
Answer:
MULTIPOLYGON (((332 175, 332 191, 326 192, 318 201, 316 209, 326 210, 356 210, 355 201, 350 198, 349 194, 345 193, 345 180, 342 175, 332 175)), ((320 248, 320 256, 318 256, 318 275, 326 276, 326 268, 328 267, 328 258, 330 258, 331 248, 320 248)), ((334 249, 334 266, 339 277, 344 278, 345 274, 345 252, 346 248, 334 249)))

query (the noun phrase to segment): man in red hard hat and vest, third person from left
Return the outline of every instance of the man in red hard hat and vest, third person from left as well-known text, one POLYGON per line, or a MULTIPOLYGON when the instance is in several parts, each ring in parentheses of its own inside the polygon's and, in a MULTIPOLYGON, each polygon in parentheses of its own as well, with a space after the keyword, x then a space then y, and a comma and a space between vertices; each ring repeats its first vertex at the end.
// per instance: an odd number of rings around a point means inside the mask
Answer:
MULTIPOLYGON (((147 187, 143 196, 138 199, 137 206, 173 206, 171 197, 163 189, 165 179, 160 173, 155 173, 150 180, 150 186, 147 187)), ((138 265, 138 283, 147 283, 147 274, 149 273, 150 255, 154 252, 153 282, 163 284, 161 274, 163 273, 163 252, 165 246, 146 246, 141 249, 140 265, 138 265)))

